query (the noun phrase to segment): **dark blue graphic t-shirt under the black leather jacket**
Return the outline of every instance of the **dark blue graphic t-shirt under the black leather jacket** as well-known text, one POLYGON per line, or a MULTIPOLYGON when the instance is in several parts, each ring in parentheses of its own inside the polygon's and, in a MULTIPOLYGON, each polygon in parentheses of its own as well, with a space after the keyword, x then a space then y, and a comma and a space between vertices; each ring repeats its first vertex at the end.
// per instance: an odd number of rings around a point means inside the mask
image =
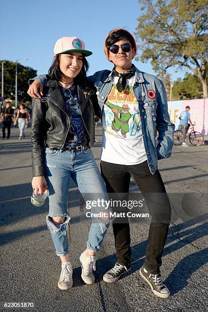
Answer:
POLYGON ((66 103, 68 115, 71 119, 70 132, 65 141, 64 147, 76 145, 89 145, 89 136, 84 127, 80 113, 80 102, 78 98, 77 86, 68 89, 61 87, 62 95, 66 103))

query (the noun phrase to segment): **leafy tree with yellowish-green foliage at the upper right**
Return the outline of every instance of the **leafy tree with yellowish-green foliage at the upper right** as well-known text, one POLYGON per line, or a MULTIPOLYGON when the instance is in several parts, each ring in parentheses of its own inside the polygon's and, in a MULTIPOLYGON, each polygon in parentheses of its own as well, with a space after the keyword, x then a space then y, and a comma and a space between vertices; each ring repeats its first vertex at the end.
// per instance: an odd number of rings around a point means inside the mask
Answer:
POLYGON ((151 60, 153 69, 166 72, 179 66, 191 70, 199 80, 203 97, 208 97, 207 0, 138 0, 145 12, 138 17, 136 38, 140 59, 151 60))

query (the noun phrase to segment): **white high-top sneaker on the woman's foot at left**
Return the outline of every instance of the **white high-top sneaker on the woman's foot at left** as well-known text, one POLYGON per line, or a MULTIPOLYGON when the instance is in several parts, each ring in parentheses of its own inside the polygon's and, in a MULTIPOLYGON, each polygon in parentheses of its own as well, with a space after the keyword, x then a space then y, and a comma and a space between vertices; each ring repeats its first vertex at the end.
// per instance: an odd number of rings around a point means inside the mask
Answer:
POLYGON ((73 279, 72 279, 72 265, 71 262, 62 262, 61 275, 58 281, 58 288, 62 290, 67 290, 72 288, 73 279))

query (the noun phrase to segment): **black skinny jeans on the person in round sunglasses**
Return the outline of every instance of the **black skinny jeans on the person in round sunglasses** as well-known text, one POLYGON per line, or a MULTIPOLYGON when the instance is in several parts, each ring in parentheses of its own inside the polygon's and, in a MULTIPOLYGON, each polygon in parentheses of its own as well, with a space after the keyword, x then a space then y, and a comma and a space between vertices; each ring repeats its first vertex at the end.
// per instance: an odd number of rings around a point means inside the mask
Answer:
MULTIPOLYGON (((101 161, 101 173, 108 193, 129 192, 130 177, 134 179, 144 196, 152 217, 148 245, 146 249, 145 268, 151 274, 159 273, 161 256, 168 235, 171 218, 171 205, 158 170, 152 175, 147 161, 137 165, 118 165, 101 161)), ((112 195, 112 194, 110 194, 112 195)), ((119 195, 121 196, 121 195, 119 195)), ((112 196, 110 196, 112 198, 112 196)), ((118 197, 115 194, 115 199, 118 197)), ((126 198, 125 198, 126 199, 126 198)), ((118 263, 129 266, 131 263, 130 228, 128 218, 113 222, 113 234, 118 263)))

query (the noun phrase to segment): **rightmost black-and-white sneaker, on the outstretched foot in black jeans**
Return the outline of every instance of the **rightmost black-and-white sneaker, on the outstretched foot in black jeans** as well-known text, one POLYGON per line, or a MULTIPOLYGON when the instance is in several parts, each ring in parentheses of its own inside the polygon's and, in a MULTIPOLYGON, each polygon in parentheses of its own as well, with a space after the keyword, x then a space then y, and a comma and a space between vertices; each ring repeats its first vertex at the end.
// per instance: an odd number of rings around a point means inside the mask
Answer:
POLYGON ((153 294, 160 298, 168 298, 170 296, 170 291, 164 285, 161 274, 151 274, 144 266, 140 269, 140 275, 146 282, 150 285, 153 294))

